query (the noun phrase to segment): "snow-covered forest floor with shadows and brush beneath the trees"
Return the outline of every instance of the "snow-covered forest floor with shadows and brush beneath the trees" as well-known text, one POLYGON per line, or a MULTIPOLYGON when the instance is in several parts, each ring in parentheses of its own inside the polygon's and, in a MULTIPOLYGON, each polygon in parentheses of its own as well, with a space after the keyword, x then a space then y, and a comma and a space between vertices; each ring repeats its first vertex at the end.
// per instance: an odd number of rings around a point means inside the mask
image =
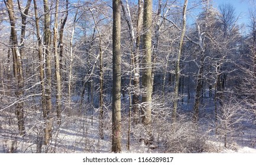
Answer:
MULTIPOLYGON (((88 107, 85 107, 88 108, 88 107)), ((157 114, 154 114, 157 115, 157 114)), ((77 113, 73 111, 71 116, 63 114, 61 126, 54 123, 53 138, 50 144, 45 146, 41 143, 43 140, 43 120, 41 112, 37 110, 25 111, 25 127, 26 136, 18 135, 17 119, 13 110, 2 111, 0 114, 0 153, 110 153, 111 152, 111 112, 105 113, 104 121, 104 139, 99 138, 99 120, 97 110, 87 111, 85 113, 77 113), (92 115, 93 114, 93 115, 92 115)), ((253 123, 244 123, 234 135, 228 138, 228 147, 224 147, 223 137, 216 136, 214 128, 208 124, 207 116, 203 121, 205 127, 202 129, 203 134, 207 134, 206 144, 209 149, 204 152, 209 153, 256 153, 256 127, 253 123)), ((170 133, 170 125, 167 120, 161 118, 155 120, 155 149, 145 146, 140 142, 139 134, 140 127, 137 130, 132 130, 138 134, 131 134, 130 150, 127 150, 127 132, 128 120, 127 116, 123 116, 122 121, 122 153, 166 153, 170 150, 166 148, 166 144, 171 144, 168 139, 170 133), (165 136, 167 141, 164 141, 162 136, 165 136)), ((190 131, 183 124, 183 128, 177 130, 179 136, 183 136, 183 132, 190 131)), ((182 127, 182 126, 180 126, 182 127)), ((188 126, 189 127, 189 126, 188 126)), ((175 139, 179 137, 175 137, 175 139)), ((185 134, 183 138, 188 138, 185 134)), ((187 143, 187 144, 190 144, 187 143)), ((168 147, 171 147, 170 145, 168 147)), ((186 147, 186 146, 183 146, 186 147)))

